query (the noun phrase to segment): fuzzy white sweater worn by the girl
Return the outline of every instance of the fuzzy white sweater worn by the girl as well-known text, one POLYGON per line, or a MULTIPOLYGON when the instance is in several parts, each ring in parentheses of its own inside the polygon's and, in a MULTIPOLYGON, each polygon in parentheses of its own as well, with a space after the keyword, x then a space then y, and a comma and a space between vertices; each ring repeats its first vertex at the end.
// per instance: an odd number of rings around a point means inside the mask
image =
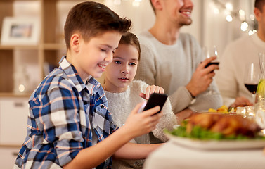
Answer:
MULTIPOLYGON (((105 91, 108 99, 108 110, 112 113, 113 121, 119 127, 127 120, 129 113, 133 110, 136 104, 144 101, 139 96, 141 92, 146 93, 146 87, 148 84, 141 80, 134 80, 128 86, 128 89, 122 93, 110 93, 105 91)), ((170 101, 167 100, 162 108, 163 116, 160 118, 160 122, 157 124, 153 135, 163 142, 167 141, 167 137, 164 135, 163 130, 172 130, 173 126, 176 125, 176 115, 172 112, 172 106, 170 101)), ((140 137, 136 137, 131 142, 138 144, 150 144, 149 134, 144 134, 140 137)), ((115 161, 113 160, 112 168, 137 168, 143 165, 143 161, 115 161)))

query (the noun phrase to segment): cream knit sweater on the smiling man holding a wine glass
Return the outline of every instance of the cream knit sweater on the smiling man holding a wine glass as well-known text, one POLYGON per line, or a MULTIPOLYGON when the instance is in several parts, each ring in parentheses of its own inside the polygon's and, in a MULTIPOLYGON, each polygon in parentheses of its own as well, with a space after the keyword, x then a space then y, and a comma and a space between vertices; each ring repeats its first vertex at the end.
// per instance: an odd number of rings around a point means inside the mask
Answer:
MULTIPOLYGON (((169 94, 174 113, 190 108, 192 111, 219 108, 222 105, 221 95, 206 96, 205 92, 193 99, 186 89, 195 69, 201 61, 201 48, 189 34, 181 33, 176 44, 166 45, 153 37, 148 30, 139 36, 141 59, 138 64, 136 79, 164 88, 169 94)), ((213 89, 219 92, 213 82, 213 89)), ((208 90, 206 91, 208 92, 208 90)))

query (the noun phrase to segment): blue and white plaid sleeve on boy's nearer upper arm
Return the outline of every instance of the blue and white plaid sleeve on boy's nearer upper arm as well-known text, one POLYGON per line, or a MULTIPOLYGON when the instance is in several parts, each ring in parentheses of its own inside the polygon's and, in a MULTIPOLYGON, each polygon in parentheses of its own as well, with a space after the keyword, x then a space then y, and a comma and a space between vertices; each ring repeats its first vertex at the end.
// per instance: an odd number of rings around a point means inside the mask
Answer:
POLYGON ((83 149, 77 91, 62 86, 52 87, 40 100, 40 105, 39 110, 34 111, 39 113, 39 123, 44 127, 44 144, 53 146, 57 160, 63 166, 83 149))

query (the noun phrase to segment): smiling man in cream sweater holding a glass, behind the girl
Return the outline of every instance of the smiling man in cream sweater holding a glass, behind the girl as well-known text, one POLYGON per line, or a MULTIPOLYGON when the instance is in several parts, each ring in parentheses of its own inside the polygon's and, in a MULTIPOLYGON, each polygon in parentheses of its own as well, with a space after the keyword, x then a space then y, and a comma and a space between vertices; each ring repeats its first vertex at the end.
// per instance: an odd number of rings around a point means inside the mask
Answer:
POLYGON ((150 3, 155 11, 155 24, 139 36, 141 60, 136 79, 163 87, 179 121, 188 118, 193 111, 221 106, 220 94, 206 94, 211 83, 219 93, 213 82, 213 70, 219 66, 205 68, 215 57, 203 61, 196 39, 180 32, 182 26, 192 23, 193 2, 150 0, 150 3))

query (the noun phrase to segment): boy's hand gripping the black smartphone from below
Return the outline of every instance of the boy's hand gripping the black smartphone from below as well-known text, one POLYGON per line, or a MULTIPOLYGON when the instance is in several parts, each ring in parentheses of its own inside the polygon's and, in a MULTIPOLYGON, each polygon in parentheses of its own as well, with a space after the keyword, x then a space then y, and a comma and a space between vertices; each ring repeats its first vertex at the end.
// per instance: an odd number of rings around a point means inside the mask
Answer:
POLYGON ((136 105, 127 118, 125 125, 122 126, 129 134, 131 134, 131 138, 147 134, 154 130, 159 122, 159 119, 162 117, 162 113, 157 113, 160 111, 160 106, 155 106, 154 108, 150 108, 148 111, 138 113, 138 109, 142 104, 143 102, 136 105))

